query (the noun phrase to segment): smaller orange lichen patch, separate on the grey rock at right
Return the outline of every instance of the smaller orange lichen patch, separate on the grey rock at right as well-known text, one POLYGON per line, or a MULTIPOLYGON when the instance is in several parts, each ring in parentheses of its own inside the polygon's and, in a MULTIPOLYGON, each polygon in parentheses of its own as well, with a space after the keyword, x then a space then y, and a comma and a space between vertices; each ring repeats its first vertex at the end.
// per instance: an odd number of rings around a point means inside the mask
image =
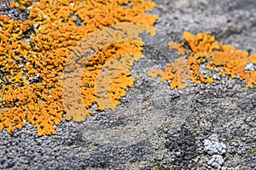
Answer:
POLYGON ((185 51, 184 42, 170 42, 171 48, 177 49, 177 54, 187 54, 189 57, 176 59, 167 66, 166 71, 149 71, 150 77, 161 77, 161 81, 170 80, 171 88, 186 88, 187 79, 196 84, 211 83, 212 77, 205 77, 199 71, 200 67, 205 67, 210 71, 221 71, 221 75, 231 78, 239 77, 240 80, 247 82, 247 87, 253 88, 256 84, 256 71, 247 70, 248 64, 256 64, 256 54, 249 55, 247 52, 237 50, 233 46, 223 42, 215 41, 215 37, 206 33, 198 33, 196 36, 184 32, 183 38, 189 46, 185 51), (205 66, 204 66, 205 65, 205 66))

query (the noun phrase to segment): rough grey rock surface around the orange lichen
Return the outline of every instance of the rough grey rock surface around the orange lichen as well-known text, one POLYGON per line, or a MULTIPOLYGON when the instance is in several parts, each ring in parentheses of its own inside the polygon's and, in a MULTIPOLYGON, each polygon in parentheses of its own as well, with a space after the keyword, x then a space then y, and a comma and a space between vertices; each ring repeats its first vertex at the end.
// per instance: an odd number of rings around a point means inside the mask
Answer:
POLYGON ((0 169, 256 169, 256 93, 220 77, 177 91, 147 77, 177 58, 167 42, 183 31, 208 32, 218 41, 256 53, 254 0, 158 0, 156 37, 145 37, 145 58, 133 69, 134 88, 115 111, 85 122, 62 122, 57 134, 38 138, 27 124, 0 133, 0 169), (225 152, 211 156, 205 142, 218 135, 225 152), (224 162, 223 162, 224 161, 224 162), (210 162, 210 163, 209 163, 210 162), (213 163, 219 167, 215 167, 213 163))

